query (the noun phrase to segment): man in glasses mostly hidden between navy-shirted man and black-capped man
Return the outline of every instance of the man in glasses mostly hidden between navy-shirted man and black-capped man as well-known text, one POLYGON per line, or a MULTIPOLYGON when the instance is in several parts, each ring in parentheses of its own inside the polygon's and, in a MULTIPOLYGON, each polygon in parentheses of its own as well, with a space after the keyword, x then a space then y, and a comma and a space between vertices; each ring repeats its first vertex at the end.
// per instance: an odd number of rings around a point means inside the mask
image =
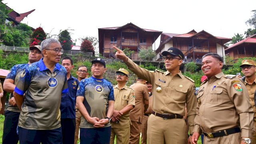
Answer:
MULTIPOLYGON (((76 71, 76 75, 78 76, 78 81, 88 78, 88 69, 86 66, 79 66, 78 70, 76 71)), ((75 141, 74 144, 77 144, 78 141, 78 134, 79 134, 79 126, 81 122, 81 113, 79 112, 77 106, 75 106, 76 109, 76 132, 75 132, 75 141)))

